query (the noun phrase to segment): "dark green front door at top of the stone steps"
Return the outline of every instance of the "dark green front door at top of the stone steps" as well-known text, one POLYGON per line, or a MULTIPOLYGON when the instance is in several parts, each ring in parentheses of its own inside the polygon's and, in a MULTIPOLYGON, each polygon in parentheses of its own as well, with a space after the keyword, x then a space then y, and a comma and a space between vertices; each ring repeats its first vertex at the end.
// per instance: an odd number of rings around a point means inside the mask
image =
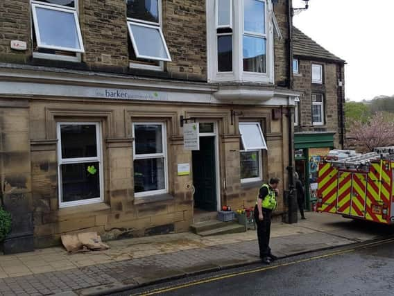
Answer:
POLYGON ((200 150, 193 151, 194 206, 216 211, 215 137, 200 137, 200 150))

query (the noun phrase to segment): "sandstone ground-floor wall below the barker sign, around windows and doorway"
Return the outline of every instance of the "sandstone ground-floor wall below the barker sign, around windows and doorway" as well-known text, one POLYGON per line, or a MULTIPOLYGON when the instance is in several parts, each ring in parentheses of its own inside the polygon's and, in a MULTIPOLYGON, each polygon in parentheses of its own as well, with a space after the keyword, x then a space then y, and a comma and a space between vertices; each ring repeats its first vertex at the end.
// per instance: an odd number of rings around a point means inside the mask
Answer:
MULTIPOLYGON (((60 103, 55 99, 33 100, 29 119, 35 245, 57 245, 61 234, 81 231, 96 231, 105 239, 187 231, 194 218, 193 179, 192 175, 178 176, 177 164, 192 164, 192 161, 191 152, 183 148, 182 128, 178 120, 180 114, 195 114, 198 119, 218 122, 221 203, 228 204, 233 209, 239 209, 243 205, 253 207, 261 184, 241 185, 240 138, 237 123, 230 125, 229 107, 117 103, 105 100, 90 100, 84 103, 60 103), (135 198, 134 195, 132 137, 129 127, 132 122, 141 120, 166 123, 171 196, 162 200, 135 198), (105 189, 103 203, 59 209, 56 121, 101 123, 105 189)), ((264 181, 268 180, 268 177, 280 177, 282 196, 287 185, 287 119, 283 117, 282 120, 272 120, 271 108, 243 108, 240 121, 256 119, 265 122, 264 132, 268 143, 268 152, 263 153, 264 181)), ((277 212, 281 213, 283 210, 284 204, 280 198, 277 212)))

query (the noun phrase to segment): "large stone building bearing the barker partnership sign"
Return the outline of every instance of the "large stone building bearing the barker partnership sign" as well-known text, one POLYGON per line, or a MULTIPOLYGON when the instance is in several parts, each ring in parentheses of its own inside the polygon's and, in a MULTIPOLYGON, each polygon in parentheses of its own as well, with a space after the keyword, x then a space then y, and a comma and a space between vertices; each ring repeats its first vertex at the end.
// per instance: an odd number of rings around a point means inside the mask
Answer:
POLYGON ((203 211, 252 206, 271 176, 283 196, 290 12, 289 0, 0 1, 5 250, 185 232, 203 211), (184 148, 184 123, 200 150, 184 148))

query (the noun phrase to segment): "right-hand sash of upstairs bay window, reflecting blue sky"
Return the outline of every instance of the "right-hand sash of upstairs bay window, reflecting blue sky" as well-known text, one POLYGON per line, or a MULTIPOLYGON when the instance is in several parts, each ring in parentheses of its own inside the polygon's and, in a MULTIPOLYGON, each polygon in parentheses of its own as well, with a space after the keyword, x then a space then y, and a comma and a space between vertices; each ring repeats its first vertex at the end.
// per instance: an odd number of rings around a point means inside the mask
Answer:
POLYGON ((243 0, 243 71, 266 73, 266 3, 243 0))

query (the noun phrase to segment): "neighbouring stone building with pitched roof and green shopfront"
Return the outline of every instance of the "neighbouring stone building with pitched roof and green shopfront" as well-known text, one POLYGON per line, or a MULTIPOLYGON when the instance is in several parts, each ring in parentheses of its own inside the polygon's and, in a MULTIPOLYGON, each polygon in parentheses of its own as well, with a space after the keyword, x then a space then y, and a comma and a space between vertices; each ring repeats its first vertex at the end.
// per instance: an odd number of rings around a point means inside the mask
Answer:
POLYGON ((314 201, 318 160, 345 137, 345 61, 293 27, 295 170, 305 184, 307 208, 314 201), (310 189, 310 190, 309 190, 310 189))

